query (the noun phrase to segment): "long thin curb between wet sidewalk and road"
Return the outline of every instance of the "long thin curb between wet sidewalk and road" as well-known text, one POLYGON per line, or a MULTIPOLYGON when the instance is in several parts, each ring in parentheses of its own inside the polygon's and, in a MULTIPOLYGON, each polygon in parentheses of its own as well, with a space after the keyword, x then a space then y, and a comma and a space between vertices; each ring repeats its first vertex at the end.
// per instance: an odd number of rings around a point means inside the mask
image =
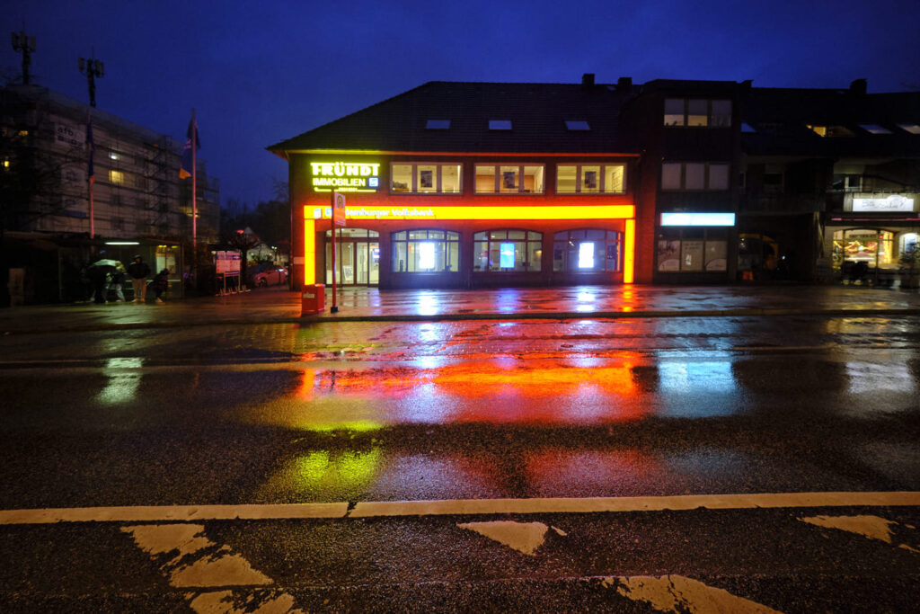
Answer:
POLYGON ((735 308, 735 309, 647 309, 642 311, 553 311, 536 313, 458 313, 458 314, 395 314, 342 316, 316 314, 299 318, 167 320, 153 322, 97 323, 69 327, 0 330, 0 335, 40 334, 57 332, 92 332, 97 330, 184 329, 201 326, 252 326, 257 324, 327 324, 338 322, 457 322, 467 320, 569 320, 569 319, 653 319, 653 318, 776 318, 784 316, 832 316, 841 318, 876 318, 880 316, 920 316, 920 307, 889 307, 879 309, 802 309, 802 308, 735 308))

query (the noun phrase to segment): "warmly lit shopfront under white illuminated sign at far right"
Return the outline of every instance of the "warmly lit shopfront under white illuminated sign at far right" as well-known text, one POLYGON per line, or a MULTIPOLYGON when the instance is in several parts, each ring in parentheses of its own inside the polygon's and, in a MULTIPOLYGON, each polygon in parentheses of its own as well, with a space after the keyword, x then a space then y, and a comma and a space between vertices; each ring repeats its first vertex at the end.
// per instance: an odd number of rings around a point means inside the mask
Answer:
POLYGON ((891 285, 902 258, 920 236, 918 194, 847 194, 842 214, 832 214, 824 232, 834 277, 844 283, 891 285))

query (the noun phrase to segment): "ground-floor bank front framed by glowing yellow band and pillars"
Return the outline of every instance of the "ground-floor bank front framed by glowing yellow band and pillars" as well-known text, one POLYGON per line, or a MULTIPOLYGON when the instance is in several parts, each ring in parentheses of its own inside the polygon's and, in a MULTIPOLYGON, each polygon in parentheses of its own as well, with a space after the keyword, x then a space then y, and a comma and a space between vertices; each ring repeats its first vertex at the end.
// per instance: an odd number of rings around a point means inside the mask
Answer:
MULTIPOLYGON (((633 281, 632 204, 367 204, 347 205, 344 214, 346 226, 334 231, 340 284, 463 288, 633 281)), ((331 207, 304 208, 306 284, 311 261, 332 281, 330 217, 331 207)))

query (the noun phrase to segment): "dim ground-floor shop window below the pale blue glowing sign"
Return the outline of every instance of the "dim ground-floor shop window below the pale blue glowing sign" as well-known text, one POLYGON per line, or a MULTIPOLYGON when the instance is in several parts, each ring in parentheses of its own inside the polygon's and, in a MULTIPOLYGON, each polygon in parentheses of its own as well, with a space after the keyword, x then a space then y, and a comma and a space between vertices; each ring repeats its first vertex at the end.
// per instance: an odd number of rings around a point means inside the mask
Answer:
POLYGON ((669 228, 658 235, 659 272, 728 271, 728 237, 714 228, 669 228))

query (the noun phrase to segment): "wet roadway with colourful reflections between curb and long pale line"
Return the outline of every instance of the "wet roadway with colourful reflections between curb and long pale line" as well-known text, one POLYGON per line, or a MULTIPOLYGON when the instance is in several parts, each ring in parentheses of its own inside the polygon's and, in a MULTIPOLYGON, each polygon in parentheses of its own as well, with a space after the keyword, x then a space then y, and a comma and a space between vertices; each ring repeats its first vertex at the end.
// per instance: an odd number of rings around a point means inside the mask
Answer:
POLYGON ((85 370, 9 369, 0 395, 10 442, 52 432, 17 469, 46 468, 42 484, 76 476, 75 502, 113 484, 141 503, 916 489, 917 446, 899 437, 920 411, 918 328, 583 319, 74 335, 53 347, 92 356, 85 370), (98 441, 71 458, 47 449, 61 433, 98 441), (107 456, 107 434, 125 457, 107 456), (210 499, 185 490, 201 466, 210 499))

